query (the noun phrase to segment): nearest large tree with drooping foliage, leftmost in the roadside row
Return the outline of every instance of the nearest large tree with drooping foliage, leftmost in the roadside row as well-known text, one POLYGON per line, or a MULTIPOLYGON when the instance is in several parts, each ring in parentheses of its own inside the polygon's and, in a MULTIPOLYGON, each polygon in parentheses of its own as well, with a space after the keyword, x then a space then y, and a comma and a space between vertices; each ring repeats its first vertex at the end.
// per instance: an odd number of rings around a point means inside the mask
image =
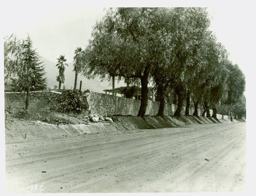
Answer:
MULTIPOLYGON (((147 107, 148 79, 154 65, 154 40, 161 28, 155 19, 157 8, 111 9, 94 27, 85 52, 86 71, 101 77, 138 78, 141 83, 141 105, 138 116, 147 107), (89 71, 88 71, 89 70, 89 71)), ((93 74, 93 75, 94 75, 93 74)))

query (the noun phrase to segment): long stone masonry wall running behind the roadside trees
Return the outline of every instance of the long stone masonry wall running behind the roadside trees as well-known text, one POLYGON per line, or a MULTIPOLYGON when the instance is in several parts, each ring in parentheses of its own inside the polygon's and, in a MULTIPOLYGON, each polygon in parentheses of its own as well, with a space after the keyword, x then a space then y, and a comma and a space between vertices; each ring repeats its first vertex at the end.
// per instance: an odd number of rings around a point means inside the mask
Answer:
MULTIPOLYGON (((30 92, 30 100, 51 100, 54 103, 60 103, 65 100, 65 91, 33 91, 30 92)), ((26 94, 20 92, 5 92, 5 100, 10 102, 25 101, 26 94)), ((104 116, 107 115, 132 115, 136 116, 139 112, 140 101, 135 99, 127 99, 120 96, 113 96, 98 92, 91 92, 88 97, 91 113, 97 113, 104 116)), ((159 102, 148 100, 145 115, 155 116, 158 113, 159 102)), ((172 116, 177 106, 174 104, 165 104, 164 115, 172 116)), ((192 115, 194 108, 190 108, 189 115, 192 115)), ((202 110, 198 110, 198 114, 202 114, 202 110)), ((182 108, 181 115, 185 114, 185 107, 182 108)), ((212 110, 210 110, 212 114, 212 110)))

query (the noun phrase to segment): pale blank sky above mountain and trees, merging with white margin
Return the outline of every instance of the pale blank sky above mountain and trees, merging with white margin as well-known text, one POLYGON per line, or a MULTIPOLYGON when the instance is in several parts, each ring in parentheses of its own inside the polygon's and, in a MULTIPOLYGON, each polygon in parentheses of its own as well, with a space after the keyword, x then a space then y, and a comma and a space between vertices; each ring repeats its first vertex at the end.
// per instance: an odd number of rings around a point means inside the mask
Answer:
MULTIPOLYGON (((56 62, 65 55, 68 62, 73 61, 76 47, 84 48, 91 38, 92 27, 104 15, 104 7, 208 7, 212 16, 211 30, 229 52, 229 60, 238 64, 244 74, 250 75, 252 59, 255 56, 255 22, 253 4, 231 3, 231 1, 1 1, 1 35, 15 33, 20 38, 29 34, 34 48, 40 56, 56 62)), ((3 37, 2 36, 2 37, 3 37)), ((255 63, 254 63, 255 65, 255 63)), ((255 76, 255 75, 254 75, 255 76)), ((254 78, 253 76, 253 78, 254 78)))

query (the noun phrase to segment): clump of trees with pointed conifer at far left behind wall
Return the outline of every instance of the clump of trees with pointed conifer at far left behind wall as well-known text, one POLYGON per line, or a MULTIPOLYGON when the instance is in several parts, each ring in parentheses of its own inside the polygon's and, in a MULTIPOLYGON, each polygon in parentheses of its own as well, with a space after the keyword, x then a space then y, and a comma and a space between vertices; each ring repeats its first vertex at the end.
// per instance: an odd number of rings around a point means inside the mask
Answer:
POLYGON ((27 91, 25 108, 28 109, 30 90, 47 88, 44 65, 29 35, 26 40, 19 40, 15 35, 6 37, 4 50, 5 78, 11 80, 14 91, 27 91))

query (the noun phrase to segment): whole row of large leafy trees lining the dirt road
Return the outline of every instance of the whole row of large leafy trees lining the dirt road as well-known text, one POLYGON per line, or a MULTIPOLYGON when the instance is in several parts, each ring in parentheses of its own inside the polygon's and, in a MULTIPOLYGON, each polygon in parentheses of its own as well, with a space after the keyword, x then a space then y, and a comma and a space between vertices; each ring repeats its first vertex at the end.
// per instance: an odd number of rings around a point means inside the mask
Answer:
MULTIPOLYGON (((190 100, 203 115, 216 117, 217 107, 239 102, 245 90, 245 77, 228 61, 224 46, 209 30, 205 8, 116 8, 97 22, 92 39, 82 53, 82 73, 125 81, 140 81, 141 105, 147 107, 148 83, 157 87, 163 115, 165 94, 172 89, 178 96, 176 116, 190 100)), ((114 86, 114 85, 113 85, 114 86)))

